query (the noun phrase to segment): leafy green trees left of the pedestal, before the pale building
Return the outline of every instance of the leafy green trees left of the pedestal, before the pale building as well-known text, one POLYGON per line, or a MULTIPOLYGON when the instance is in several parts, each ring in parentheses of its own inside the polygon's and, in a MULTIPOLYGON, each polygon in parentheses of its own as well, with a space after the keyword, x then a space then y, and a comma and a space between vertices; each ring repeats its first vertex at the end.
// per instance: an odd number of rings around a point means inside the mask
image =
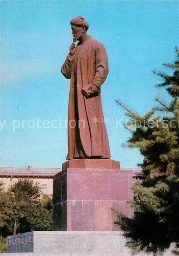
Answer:
POLYGON ((52 230, 52 197, 41 196, 40 191, 38 183, 20 179, 7 192, 0 192, 0 228, 3 237, 32 230, 52 230))

